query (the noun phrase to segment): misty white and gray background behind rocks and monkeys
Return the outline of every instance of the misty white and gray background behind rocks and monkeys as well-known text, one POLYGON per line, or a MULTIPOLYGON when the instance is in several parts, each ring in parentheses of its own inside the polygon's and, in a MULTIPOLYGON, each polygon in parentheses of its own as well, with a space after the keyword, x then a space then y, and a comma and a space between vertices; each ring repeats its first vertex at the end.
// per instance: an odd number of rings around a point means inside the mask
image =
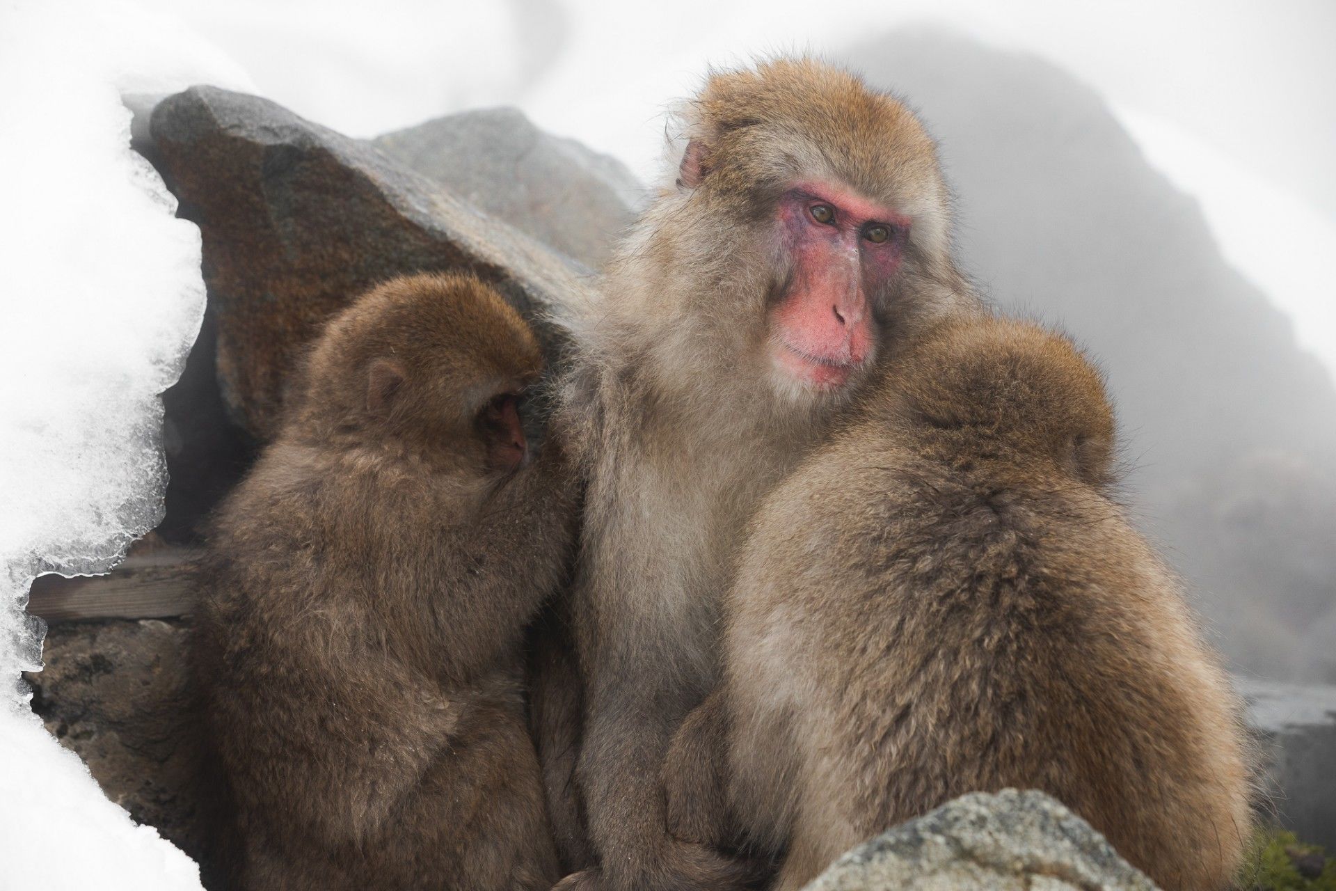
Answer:
POLYGON ((1336 4, 135 5, 349 135, 514 106, 645 183, 709 65, 860 71, 939 140, 981 290, 1108 373, 1125 500, 1233 667, 1336 683, 1336 4))

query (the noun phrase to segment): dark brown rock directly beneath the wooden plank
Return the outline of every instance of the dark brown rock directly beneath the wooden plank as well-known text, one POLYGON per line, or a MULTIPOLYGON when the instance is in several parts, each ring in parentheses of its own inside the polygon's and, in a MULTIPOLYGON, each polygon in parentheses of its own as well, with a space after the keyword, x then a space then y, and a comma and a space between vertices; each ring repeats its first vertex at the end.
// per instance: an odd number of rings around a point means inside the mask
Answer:
POLYGON ((198 727, 187 635, 179 620, 56 624, 47 632, 45 668, 24 679, 32 685, 32 709, 88 764, 107 797, 195 855, 198 727))

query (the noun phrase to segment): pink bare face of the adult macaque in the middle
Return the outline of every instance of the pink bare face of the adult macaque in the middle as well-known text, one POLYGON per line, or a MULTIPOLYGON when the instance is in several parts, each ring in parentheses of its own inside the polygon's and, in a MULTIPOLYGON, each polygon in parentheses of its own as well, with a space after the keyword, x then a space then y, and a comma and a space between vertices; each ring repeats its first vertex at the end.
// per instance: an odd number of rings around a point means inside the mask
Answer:
POLYGON ((792 381, 838 390, 876 351, 872 301, 900 263, 910 219, 826 183, 794 186, 778 212, 792 273, 771 309, 771 359, 792 381))

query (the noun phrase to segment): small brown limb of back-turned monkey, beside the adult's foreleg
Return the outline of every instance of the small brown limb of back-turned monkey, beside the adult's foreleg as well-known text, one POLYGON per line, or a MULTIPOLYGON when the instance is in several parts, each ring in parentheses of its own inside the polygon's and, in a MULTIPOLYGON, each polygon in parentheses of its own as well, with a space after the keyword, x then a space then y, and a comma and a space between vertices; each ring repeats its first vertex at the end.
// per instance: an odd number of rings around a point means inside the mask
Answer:
POLYGON ((664 759, 668 831, 683 842, 728 840, 728 725, 723 684, 677 728, 664 759))

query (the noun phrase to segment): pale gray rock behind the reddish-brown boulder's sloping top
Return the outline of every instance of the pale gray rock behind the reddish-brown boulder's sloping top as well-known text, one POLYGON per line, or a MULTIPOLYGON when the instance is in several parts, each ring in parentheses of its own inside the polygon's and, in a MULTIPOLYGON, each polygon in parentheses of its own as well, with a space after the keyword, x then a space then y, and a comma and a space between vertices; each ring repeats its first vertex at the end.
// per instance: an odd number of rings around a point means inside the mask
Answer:
POLYGON ((371 144, 591 269, 608 260, 644 196, 625 164, 538 130, 517 108, 465 111, 371 144))

